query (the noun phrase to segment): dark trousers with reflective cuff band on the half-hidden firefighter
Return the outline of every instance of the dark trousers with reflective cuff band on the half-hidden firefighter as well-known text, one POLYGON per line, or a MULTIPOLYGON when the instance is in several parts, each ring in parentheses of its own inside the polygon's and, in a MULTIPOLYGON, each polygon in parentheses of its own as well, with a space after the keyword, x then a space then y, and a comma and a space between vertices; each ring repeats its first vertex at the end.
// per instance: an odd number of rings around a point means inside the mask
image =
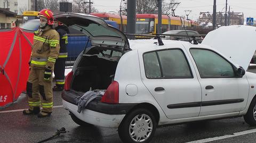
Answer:
POLYGON ((54 65, 54 79, 57 87, 64 87, 65 84, 65 64, 66 58, 58 58, 54 65))

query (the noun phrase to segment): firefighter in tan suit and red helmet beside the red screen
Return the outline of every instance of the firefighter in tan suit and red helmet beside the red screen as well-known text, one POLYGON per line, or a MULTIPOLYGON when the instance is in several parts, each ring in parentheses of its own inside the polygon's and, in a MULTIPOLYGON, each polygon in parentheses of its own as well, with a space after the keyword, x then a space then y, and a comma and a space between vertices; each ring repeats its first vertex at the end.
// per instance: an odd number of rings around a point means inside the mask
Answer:
POLYGON ((29 60, 30 72, 27 81, 29 109, 23 114, 50 116, 53 107, 52 71, 59 55, 59 34, 53 29, 53 13, 44 9, 38 13, 40 27, 34 33, 34 43, 29 60), (40 96, 41 95, 41 96, 40 96), (40 111, 40 105, 43 109, 40 111))

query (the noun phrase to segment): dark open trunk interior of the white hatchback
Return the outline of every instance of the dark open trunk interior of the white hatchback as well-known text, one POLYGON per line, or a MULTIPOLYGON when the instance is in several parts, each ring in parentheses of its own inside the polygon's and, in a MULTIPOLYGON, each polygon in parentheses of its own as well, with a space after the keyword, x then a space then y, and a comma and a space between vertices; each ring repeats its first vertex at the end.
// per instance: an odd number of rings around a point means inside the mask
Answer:
POLYGON ((99 52, 97 50, 96 53, 94 51, 94 53, 83 55, 73 75, 71 89, 78 92, 86 92, 108 88, 112 80, 114 80, 117 63, 121 55, 111 56, 104 54, 104 56, 99 56, 99 53, 102 53, 102 51, 99 52))

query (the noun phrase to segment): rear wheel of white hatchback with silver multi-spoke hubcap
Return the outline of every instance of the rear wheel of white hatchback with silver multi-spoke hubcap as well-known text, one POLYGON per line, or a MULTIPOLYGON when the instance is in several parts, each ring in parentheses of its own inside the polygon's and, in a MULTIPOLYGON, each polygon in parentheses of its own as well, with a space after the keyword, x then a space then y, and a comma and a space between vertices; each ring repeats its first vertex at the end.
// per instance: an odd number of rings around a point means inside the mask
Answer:
POLYGON ((118 127, 123 142, 149 142, 156 131, 156 119, 145 108, 139 108, 128 114, 118 127), (136 125, 136 126, 135 126, 136 125), (137 141, 136 141, 137 140, 137 141))

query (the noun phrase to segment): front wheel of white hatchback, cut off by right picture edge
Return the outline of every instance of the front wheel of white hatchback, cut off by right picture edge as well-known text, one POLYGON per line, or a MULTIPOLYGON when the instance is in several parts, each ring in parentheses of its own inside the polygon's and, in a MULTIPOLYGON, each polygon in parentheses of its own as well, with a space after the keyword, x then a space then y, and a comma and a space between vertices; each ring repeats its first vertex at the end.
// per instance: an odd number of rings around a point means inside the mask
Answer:
POLYGON ((253 98, 247 113, 244 115, 244 121, 252 126, 256 125, 256 98, 253 98))

